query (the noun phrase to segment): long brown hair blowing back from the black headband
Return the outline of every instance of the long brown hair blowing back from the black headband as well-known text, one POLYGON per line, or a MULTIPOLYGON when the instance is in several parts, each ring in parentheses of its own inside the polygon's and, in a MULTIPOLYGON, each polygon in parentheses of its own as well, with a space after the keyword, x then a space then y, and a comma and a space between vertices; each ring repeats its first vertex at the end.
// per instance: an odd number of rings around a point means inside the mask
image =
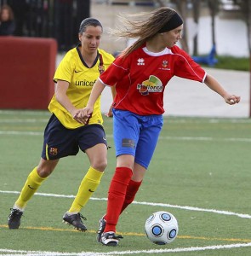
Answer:
POLYGON ((137 38, 134 44, 124 49, 120 55, 126 57, 134 49, 140 48, 147 40, 154 37, 174 14, 176 14, 174 9, 162 7, 136 15, 118 15, 123 25, 111 29, 110 33, 122 38, 137 38))

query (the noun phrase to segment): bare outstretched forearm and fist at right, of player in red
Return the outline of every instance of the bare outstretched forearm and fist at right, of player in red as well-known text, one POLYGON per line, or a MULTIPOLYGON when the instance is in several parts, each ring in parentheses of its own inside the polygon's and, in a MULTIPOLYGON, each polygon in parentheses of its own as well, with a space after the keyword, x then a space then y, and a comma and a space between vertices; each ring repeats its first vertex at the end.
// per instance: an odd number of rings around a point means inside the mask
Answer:
POLYGON ((215 92, 217 92, 220 96, 222 96, 225 100, 225 103, 233 105, 236 104, 238 102, 240 102, 241 97, 240 96, 236 96, 234 94, 230 94, 228 93, 221 85, 220 83, 214 79, 213 76, 207 74, 206 79, 204 80, 204 83, 208 85, 208 87, 211 90, 214 90, 215 92))

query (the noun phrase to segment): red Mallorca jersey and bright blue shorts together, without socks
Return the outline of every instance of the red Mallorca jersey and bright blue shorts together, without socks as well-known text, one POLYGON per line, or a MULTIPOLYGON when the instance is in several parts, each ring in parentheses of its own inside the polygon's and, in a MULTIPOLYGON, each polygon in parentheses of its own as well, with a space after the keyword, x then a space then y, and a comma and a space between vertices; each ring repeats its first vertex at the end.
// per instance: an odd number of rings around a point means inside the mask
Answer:
POLYGON ((174 76, 204 81, 206 73, 178 46, 153 53, 145 45, 119 56, 100 75, 100 82, 116 85, 113 133, 116 155, 134 155, 148 167, 163 127, 163 94, 174 76), (145 150, 147 148, 147 150, 145 150))

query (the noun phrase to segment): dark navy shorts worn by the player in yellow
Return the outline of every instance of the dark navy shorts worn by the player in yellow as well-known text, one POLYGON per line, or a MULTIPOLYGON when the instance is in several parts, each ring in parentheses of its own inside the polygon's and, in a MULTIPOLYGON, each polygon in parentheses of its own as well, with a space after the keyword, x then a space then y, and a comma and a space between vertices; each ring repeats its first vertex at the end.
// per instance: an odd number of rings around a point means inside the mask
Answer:
POLYGON ((76 155, 79 148, 94 147, 106 143, 106 133, 101 125, 84 125, 77 129, 67 129, 53 114, 44 130, 43 151, 44 160, 56 160, 68 155, 76 155))

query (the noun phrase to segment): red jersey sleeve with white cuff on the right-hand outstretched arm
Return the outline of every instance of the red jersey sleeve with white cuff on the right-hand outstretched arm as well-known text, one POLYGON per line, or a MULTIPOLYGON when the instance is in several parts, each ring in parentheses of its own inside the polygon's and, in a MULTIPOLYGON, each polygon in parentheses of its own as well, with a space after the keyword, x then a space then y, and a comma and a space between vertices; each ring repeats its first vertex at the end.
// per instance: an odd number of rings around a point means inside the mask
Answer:
POLYGON ((192 60, 183 49, 174 47, 172 49, 174 55, 176 55, 176 61, 174 61, 174 75, 183 79, 195 80, 203 83, 206 78, 205 70, 192 60))

